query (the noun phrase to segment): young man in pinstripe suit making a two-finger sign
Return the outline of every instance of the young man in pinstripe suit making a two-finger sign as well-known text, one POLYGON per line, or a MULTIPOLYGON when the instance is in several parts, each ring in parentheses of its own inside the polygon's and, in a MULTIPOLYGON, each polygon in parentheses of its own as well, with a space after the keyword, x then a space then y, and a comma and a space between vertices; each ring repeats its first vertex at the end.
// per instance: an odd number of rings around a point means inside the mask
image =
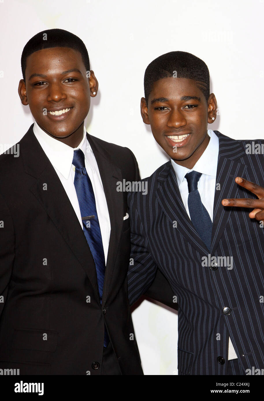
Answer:
POLYGON ((264 141, 207 130, 217 102, 190 53, 152 61, 144 91, 143 121, 170 161, 146 179, 148 194, 129 196, 130 304, 150 288, 162 301, 164 275, 178 302, 179 375, 254 374, 264 368, 264 158, 252 149, 264 141))

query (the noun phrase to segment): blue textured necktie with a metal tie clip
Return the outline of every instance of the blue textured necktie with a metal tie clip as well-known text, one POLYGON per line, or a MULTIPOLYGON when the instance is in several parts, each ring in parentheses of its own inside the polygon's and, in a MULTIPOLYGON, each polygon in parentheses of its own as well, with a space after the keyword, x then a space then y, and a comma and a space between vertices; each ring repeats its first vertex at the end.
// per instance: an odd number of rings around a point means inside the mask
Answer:
MULTIPOLYGON (((74 150, 72 164, 75 166, 74 186, 79 202, 81 219, 83 222, 83 232, 87 239, 91 254, 93 255, 97 274, 99 296, 102 304, 104 273, 106 269, 104 247, 96 211, 93 187, 85 168, 84 154, 81 149, 74 150)), ((108 343, 109 338, 105 328, 104 347, 107 347, 108 343)))

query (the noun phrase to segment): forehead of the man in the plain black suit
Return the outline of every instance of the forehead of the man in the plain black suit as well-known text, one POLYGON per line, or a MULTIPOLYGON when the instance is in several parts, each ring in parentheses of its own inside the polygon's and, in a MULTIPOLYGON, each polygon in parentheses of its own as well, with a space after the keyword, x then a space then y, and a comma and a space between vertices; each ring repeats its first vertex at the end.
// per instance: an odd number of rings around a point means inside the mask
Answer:
POLYGON ((70 68, 85 69, 81 53, 69 47, 51 47, 38 50, 26 59, 26 75, 55 73, 55 71, 70 68), (36 69, 38 71, 35 71, 36 69))

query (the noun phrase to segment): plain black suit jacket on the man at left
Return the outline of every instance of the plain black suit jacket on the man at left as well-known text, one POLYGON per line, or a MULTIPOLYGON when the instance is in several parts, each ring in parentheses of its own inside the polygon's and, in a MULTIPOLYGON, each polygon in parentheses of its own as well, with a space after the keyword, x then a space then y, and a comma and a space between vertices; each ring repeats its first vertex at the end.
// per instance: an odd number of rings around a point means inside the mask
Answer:
POLYGON ((19 157, 0 156, 0 368, 100 375, 105 324, 121 373, 141 375, 127 296, 127 194, 116 190, 139 179, 134 155, 87 134, 111 223, 101 305, 85 235, 32 126, 19 157))

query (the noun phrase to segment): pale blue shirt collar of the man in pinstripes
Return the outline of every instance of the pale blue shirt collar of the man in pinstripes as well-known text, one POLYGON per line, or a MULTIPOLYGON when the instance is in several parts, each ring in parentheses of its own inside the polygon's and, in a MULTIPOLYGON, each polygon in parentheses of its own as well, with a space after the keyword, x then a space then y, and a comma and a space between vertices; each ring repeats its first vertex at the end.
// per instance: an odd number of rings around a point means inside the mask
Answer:
POLYGON ((219 140, 213 130, 207 130, 207 134, 210 137, 209 144, 193 168, 189 169, 187 167, 180 166, 173 159, 171 159, 171 164, 175 171, 179 187, 183 182, 185 175, 193 170, 202 174, 216 177, 219 140))

